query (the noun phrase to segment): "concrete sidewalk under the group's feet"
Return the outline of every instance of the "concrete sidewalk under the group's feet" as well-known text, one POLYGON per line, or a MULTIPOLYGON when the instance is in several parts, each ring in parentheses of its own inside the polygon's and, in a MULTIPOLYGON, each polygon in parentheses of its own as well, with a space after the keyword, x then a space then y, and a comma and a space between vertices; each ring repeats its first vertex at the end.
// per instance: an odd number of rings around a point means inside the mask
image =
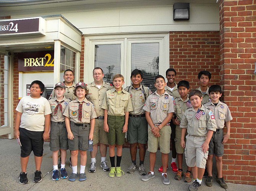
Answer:
MULTIPOLYGON (((170 185, 164 185, 162 183, 161 174, 157 172, 158 167, 161 166, 161 154, 160 151, 157 152, 157 162, 155 167, 156 177, 152 178, 149 181, 142 181, 141 175, 139 175, 138 170, 133 174, 126 173, 126 169, 131 163, 130 159, 130 150, 127 148, 123 149, 123 156, 121 167, 125 172, 120 178, 109 178, 108 172, 104 172, 100 168, 100 154, 97 154, 97 168, 95 173, 89 173, 89 166, 91 158, 89 152, 87 153, 87 165, 86 165, 86 176, 87 180, 79 182, 78 179, 75 182, 70 182, 68 179, 61 179, 58 181, 52 180, 52 152, 50 151, 49 143, 44 143, 44 155, 41 171, 43 174, 43 180, 39 183, 33 183, 35 163, 34 156, 31 153, 31 157, 28 163, 28 179, 29 183, 26 185, 19 184, 19 173, 21 172, 20 167, 20 147, 16 139, 0 139, 0 190, 1 191, 10 191, 10 190, 29 190, 29 191, 52 191, 52 190, 90 190, 90 191, 139 191, 139 190, 177 190, 183 191, 188 190, 188 185, 191 183, 185 183, 183 179, 177 181, 174 179, 175 174, 169 168, 167 170, 167 175, 171 181, 170 185)), ((107 154, 108 156, 108 154, 107 154)), ((70 158, 70 152, 67 154, 67 158, 70 158)), ((138 158, 138 157, 137 157, 138 158)), ((107 157, 109 161, 109 157, 107 157)), ((138 159, 137 159, 138 161, 138 159)), ((72 169, 69 167, 69 161, 66 163, 66 170, 68 175, 72 173, 72 169)), ((110 166, 110 162, 108 162, 110 166)), ((149 152, 146 152, 145 158, 145 167, 146 170, 149 170, 149 152)), ((183 169, 186 169, 184 167, 183 169)), ((78 172, 80 171, 80 165, 78 165, 78 172)), ((227 183, 228 191, 254 191, 256 186, 251 185, 238 185, 227 183)), ((224 191, 225 189, 221 188, 218 183, 214 180, 212 187, 207 187, 205 185, 205 179, 203 180, 203 185, 199 188, 199 191, 224 191)))

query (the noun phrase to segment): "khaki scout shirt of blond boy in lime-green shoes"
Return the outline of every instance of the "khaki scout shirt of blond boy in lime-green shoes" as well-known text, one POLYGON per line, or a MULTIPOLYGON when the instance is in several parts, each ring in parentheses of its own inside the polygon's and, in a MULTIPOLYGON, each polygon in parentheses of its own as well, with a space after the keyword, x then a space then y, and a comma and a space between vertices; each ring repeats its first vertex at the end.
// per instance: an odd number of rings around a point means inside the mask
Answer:
POLYGON ((106 92, 102 109, 108 110, 108 115, 124 116, 125 112, 133 111, 131 97, 124 89, 118 94, 115 88, 106 92))

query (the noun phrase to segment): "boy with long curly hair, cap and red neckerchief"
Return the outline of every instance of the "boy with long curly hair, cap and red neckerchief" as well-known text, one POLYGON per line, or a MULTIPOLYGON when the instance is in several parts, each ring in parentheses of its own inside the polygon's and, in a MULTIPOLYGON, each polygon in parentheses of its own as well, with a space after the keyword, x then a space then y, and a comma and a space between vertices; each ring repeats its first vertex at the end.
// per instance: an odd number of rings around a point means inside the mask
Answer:
POLYGON ((89 148, 88 139, 93 139, 95 118, 97 118, 92 103, 86 99, 87 93, 86 84, 83 82, 77 83, 76 89, 74 90, 77 98, 68 104, 68 107, 66 107, 63 113, 66 116, 65 124, 68 132, 68 148, 71 151, 71 161, 73 164, 72 174, 68 178, 70 181, 75 181, 77 177, 78 151, 81 155, 79 181, 86 180, 84 169, 87 160, 87 150, 89 148), (91 128, 89 123, 91 124, 91 128))

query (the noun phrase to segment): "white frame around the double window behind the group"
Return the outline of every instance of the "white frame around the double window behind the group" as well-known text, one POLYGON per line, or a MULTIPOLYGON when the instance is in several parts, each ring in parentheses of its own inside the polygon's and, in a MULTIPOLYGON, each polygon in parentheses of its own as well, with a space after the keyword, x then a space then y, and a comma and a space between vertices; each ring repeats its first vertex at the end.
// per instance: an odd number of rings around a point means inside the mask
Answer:
POLYGON ((159 74, 165 77, 165 71, 170 67, 169 32, 86 35, 84 43, 84 82, 93 81, 95 45, 121 44, 121 74, 125 77, 125 85, 130 86, 131 75, 131 44, 159 43, 159 74))

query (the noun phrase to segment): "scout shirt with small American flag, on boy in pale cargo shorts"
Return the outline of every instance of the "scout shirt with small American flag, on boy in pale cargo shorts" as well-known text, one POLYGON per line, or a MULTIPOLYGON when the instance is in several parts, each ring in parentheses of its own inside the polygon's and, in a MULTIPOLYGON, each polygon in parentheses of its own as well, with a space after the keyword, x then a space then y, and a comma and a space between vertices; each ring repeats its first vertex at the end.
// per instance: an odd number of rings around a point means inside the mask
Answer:
POLYGON ((188 108, 180 122, 180 128, 186 128, 189 135, 205 137, 209 130, 216 131, 216 123, 212 111, 201 105, 200 108, 203 115, 199 119, 196 118, 196 112, 193 107, 188 108))

